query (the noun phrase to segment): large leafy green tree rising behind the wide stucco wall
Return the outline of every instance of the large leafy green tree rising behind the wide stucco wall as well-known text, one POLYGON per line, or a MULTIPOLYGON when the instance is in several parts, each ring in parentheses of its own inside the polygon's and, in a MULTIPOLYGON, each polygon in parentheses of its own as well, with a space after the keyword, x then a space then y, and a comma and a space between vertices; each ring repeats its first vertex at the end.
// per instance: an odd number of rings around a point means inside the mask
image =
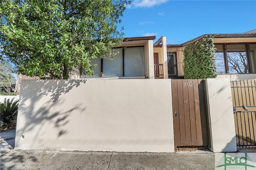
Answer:
POLYGON ((74 68, 93 74, 90 60, 113 54, 126 0, 2 0, 0 48, 16 71, 68 79, 74 68))

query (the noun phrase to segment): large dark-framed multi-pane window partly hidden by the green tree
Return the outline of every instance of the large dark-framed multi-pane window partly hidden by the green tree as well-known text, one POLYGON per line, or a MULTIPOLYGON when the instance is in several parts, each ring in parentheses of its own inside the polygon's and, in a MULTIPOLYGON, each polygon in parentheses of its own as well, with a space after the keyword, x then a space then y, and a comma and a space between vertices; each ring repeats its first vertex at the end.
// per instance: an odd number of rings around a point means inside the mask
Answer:
MULTIPOLYGON (((91 63, 97 64, 93 68, 92 77, 100 77, 101 71, 104 77, 145 75, 144 47, 125 47, 115 50, 119 52, 111 60, 92 59, 91 63)), ((89 75, 82 74, 82 77, 89 77, 89 75)))

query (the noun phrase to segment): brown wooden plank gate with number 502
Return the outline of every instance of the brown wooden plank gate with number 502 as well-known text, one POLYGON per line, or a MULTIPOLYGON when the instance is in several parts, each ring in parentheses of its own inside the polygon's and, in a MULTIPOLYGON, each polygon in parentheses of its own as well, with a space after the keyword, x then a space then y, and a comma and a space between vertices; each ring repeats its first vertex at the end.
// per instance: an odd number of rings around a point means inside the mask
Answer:
POLYGON ((201 79, 172 79, 174 145, 208 146, 208 117, 201 79))

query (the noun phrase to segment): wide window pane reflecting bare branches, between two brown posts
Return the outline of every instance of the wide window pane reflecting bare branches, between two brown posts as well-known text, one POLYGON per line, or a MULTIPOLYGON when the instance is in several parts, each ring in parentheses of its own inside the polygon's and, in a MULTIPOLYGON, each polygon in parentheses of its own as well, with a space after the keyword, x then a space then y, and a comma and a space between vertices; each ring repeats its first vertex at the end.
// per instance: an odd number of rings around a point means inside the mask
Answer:
POLYGON ((249 73, 244 44, 227 45, 229 73, 249 73))

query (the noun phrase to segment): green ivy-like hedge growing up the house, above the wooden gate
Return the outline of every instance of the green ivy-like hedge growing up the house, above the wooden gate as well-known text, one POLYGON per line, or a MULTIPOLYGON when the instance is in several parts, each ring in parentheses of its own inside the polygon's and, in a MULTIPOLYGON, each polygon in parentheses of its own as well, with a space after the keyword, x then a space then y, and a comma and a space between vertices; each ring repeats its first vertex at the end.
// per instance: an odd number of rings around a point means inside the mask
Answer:
POLYGON ((216 78, 213 39, 204 37, 184 47, 184 79, 216 78))

